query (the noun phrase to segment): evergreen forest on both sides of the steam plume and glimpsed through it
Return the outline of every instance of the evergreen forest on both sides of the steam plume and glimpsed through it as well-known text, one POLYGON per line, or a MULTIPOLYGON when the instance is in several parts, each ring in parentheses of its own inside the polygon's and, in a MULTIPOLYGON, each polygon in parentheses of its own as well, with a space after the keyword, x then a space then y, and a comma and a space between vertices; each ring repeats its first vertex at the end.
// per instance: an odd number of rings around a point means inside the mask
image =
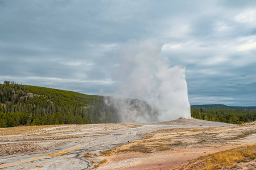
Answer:
MULTIPOLYGON (((46 87, 22 85, 5 81, 0 84, 0 128, 30 125, 118 123, 117 109, 105 104, 106 97, 46 87)), ((132 109, 142 112, 144 105, 150 116, 155 111, 144 101, 130 100, 132 109)), ((225 105, 191 106, 193 118, 230 124, 256 120, 255 107, 227 107, 225 105)))

